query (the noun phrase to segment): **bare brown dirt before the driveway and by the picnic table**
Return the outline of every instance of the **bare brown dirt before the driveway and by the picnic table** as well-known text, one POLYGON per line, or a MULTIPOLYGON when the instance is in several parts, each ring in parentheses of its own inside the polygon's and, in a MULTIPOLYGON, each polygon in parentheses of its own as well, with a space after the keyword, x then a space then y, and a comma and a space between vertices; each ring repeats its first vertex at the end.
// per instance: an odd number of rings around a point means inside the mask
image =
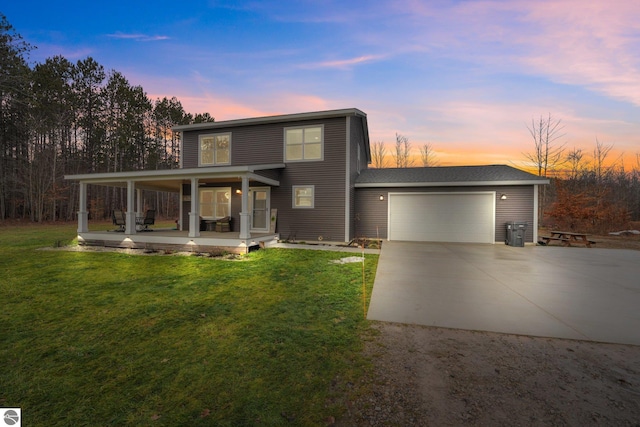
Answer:
MULTIPOLYGON (((640 236, 594 236, 640 250, 640 236)), ((591 250, 567 248, 567 250, 591 250)), ((375 322, 341 426, 640 426, 640 346, 375 322)))

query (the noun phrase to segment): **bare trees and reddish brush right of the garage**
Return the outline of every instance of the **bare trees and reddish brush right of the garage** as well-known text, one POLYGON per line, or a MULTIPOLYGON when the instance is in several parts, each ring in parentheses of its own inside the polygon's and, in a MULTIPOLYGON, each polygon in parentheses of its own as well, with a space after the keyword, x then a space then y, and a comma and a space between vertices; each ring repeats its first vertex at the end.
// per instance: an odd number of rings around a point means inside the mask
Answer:
POLYGON ((551 182, 540 192, 541 224, 605 233, 640 221, 639 154, 625 165, 622 157, 610 158, 612 144, 597 138, 591 152, 567 149, 562 120, 551 114, 533 119, 528 129, 534 149, 524 156, 551 182))

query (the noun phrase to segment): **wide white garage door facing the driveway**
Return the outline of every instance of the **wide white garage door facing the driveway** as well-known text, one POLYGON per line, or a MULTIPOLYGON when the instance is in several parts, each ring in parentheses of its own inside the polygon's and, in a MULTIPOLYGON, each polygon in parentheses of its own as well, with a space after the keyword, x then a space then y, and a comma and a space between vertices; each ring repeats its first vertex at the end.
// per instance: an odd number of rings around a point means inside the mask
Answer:
POLYGON ((494 243, 495 193, 390 193, 389 240, 494 243))

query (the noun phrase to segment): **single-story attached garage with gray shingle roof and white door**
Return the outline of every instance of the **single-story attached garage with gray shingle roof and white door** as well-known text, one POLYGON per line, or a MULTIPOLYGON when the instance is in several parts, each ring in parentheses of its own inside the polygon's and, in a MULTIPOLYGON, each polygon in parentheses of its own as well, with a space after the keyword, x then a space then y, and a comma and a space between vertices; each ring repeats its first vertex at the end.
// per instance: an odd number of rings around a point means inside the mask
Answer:
POLYGON ((355 183, 358 237, 504 243, 505 224, 526 222, 537 242, 538 187, 549 180, 506 165, 365 169, 355 183))

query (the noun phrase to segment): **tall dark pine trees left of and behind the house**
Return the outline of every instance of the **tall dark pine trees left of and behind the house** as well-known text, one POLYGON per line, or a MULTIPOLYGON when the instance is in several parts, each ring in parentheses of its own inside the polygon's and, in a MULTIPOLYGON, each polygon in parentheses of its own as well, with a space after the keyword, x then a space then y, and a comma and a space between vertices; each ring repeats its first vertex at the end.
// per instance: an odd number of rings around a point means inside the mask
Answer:
MULTIPOLYGON (((175 97, 151 100, 91 57, 30 66, 33 49, 0 14, 0 220, 72 220, 78 188, 64 175, 177 168, 172 126, 213 121, 186 113, 175 97)), ((125 200, 123 189, 89 186, 94 218, 125 200)), ((145 191, 144 205, 173 217, 178 198, 145 191)))

